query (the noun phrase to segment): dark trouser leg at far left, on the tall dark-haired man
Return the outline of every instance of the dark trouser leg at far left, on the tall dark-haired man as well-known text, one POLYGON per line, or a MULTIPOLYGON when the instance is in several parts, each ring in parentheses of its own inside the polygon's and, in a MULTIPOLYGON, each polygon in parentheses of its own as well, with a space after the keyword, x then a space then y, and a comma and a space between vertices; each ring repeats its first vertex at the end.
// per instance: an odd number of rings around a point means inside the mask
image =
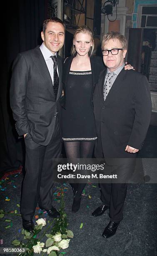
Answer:
POLYGON ((31 220, 37 206, 46 147, 35 143, 30 137, 27 138, 27 142, 25 141, 25 148, 25 177, 22 184, 20 210, 22 218, 31 220))

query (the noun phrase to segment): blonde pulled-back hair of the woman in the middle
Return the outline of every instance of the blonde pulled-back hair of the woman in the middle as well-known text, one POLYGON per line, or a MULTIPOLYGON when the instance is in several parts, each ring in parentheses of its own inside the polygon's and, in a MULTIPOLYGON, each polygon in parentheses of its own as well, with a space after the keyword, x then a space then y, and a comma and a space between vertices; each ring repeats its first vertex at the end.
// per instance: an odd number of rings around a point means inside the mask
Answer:
MULTIPOLYGON (((78 27, 77 30, 74 33, 73 40, 75 40, 75 37, 76 37, 76 35, 78 33, 89 33, 90 34, 91 39, 92 39, 92 46, 91 46, 90 51, 88 52, 88 55, 92 56, 92 53, 94 51, 94 35, 93 35, 93 31, 88 26, 86 26, 86 25, 78 27)), ((74 56, 75 54, 76 54, 75 45, 72 45, 71 55, 74 56)))

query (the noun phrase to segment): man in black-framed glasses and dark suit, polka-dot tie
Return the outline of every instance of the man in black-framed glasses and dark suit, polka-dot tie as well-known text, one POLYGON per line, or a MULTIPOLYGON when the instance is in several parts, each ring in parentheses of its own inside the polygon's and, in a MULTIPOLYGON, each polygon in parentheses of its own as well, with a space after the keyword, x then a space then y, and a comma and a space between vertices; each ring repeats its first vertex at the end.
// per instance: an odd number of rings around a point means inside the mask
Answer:
MULTIPOLYGON (((109 158, 125 159, 117 164, 108 162, 112 172, 125 177, 125 181, 145 140, 152 109, 147 78, 124 69, 126 52, 125 36, 112 32, 103 37, 102 55, 107 70, 101 72, 93 98, 98 136, 95 156, 104 157, 106 162, 109 158)), ((102 234, 109 238, 123 219, 127 183, 101 183, 100 188, 103 204, 92 215, 99 216, 110 209, 110 223, 102 234)))

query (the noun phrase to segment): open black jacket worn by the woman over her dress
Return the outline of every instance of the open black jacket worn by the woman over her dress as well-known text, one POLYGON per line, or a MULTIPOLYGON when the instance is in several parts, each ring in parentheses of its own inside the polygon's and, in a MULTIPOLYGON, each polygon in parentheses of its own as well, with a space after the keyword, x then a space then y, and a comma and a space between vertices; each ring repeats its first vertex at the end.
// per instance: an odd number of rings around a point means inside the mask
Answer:
MULTIPOLYGON (((63 90, 64 90, 64 96, 61 98, 60 103, 63 108, 66 109, 66 90, 67 90, 67 79, 70 72, 70 67, 72 64, 72 59, 74 57, 70 56, 67 59, 65 59, 63 64, 63 90)), ((102 58, 99 56, 91 56, 90 57, 90 65, 92 70, 92 93, 91 93, 91 106, 93 108, 93 91, 95 88, 95 85, 98 82, 100 72, 105 69, 105 65, 102 61, 102 58)))

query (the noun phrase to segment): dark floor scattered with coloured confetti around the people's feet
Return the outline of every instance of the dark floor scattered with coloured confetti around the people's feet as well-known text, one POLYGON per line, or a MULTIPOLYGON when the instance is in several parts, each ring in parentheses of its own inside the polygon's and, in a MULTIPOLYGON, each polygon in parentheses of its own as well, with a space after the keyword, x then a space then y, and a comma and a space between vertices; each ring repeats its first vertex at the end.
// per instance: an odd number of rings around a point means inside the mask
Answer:
MULTIPOLYGON (((71 212, 72 189, 69 184, 55 184, 54 206, 59 208, 59 197, 56 192, 64 189, 65 212, 68 229, 74 233, 67 256, 156 256, 157 255, 157 126, 150 126, 145 144, 139 157, 143 158, 146 183, 128 184, 124 207, 124 219, 115 236, 109 239, 102 237, 105 226, 110 221, 108 211, 100 217, 93 217, 92 211, 101 204, 98 184, 89 183, 82 196, 80 210, 71 212), (148 158, 148 159, 146 159, 148 158), (82 228, 81 227, 82 223, 82 228)), ((0 209, 16 211, 20 214, 20 192, 23 174, 8 175, 0 181, 0 209), (7 199, 7 200, 6 200, 7 199), (9 200, 10 199, 10 200, 9 200)), ((39 218, 51 220, 47 214, 36 209, 39 218)), ((36 217, 37 218, 37 217, 36 217)), ((33 219, 34 223, 37 219, 33 219)), ((45 227, 44 227, 45 228, 45 227)), ((20 216, 5 215, 0 218, 0 247, 12 247, 11 241, 22 239, 22 221, 20 216), (10 220, 10 222, 6 221, 10 220), (8 227, 10 226, 10 227, 8 227), (8 227, 8 228, 6 228, 8 227)), ((42 238, 44 242, 47 238, 42 238)), ((0 254, 3 255, 3 254, 0 254)), ((4 254, 6 255, 6 254, 4 254)), ((9 254, 8 254, 9 255, 9 254)), ((40 254, 41 255, 41 254, 40 254)))

